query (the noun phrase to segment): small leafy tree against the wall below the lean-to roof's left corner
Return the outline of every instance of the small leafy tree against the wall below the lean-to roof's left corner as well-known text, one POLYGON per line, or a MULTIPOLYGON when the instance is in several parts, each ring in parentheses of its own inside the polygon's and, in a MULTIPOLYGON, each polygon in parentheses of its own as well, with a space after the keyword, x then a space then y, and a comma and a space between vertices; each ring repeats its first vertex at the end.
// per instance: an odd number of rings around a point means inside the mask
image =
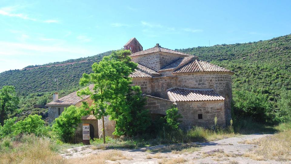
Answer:
POLYGON ((182 115, 179 113, 179 110, 176 106, 172 106, 172 108, 166 110, 166 125, 171 130, 178 130, 179 125, 181 123, 182 115))

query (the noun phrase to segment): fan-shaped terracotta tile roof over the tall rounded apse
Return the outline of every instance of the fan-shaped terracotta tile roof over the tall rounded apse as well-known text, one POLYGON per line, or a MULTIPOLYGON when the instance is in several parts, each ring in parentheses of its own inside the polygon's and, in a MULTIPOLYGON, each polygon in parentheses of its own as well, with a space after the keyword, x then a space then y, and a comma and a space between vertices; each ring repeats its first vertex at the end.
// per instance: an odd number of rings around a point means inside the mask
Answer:
POLYGON ((202 60, 195 60, 192 62, 187 63, 183 67, 175 70, 173 73, 195 73, 195 72, 230 72, 225 68, 219 67, 217 65, 207 63, 202 60))

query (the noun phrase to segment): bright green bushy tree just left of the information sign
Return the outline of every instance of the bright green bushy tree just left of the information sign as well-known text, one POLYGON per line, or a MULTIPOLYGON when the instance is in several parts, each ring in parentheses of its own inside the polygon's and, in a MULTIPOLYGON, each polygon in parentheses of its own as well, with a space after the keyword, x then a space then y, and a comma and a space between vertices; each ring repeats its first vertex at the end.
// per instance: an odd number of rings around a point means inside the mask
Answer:
POLYGON ((63 142, 70 142, 75 135, 78 124, 81 123, 82 116, 86 114, 88 114, 88 111, 85 111, 82 107, 69 106, 55 119, 52 131, 63 142))

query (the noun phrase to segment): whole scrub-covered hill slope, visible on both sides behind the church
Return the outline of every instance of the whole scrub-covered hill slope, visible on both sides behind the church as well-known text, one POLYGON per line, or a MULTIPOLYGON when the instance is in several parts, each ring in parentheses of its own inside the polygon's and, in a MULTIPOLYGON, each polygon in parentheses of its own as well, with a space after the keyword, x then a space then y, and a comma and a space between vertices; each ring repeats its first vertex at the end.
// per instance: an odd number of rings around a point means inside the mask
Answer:
MULTIPOLYGON (((253 43, 236 43, 180 49, 178 51, 195 54, 201 60, 210 61, 235 72, 233 90, 269 94, 276 102, 283 87, 291 85, 291 35, 280 36, 253 43)), ((41 67, 32 70, 10 70, 0 73, 0 88, 14 85, 21 94, 50 92, 56 90, 55 78, 59 81, 59 90, 78 87, 82 73, 89 73, 93 62, 98 62, 111 51, 87 58, 49 63, 42 66, 79 62, 64 66, 41 67)), ((32 68, 35 66, 29 66, 32 68)))

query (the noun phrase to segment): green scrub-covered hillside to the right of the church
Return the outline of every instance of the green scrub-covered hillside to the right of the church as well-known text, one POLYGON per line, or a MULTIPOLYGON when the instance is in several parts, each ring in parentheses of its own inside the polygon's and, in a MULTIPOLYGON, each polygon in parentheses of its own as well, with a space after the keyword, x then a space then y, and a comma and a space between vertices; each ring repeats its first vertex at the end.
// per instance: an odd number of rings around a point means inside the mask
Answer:
POLYGON ((235 72, 233 90, 269 94, 274 102, 291 89, 291 34, 253 43, 222 44, 178 50, 235 72))

